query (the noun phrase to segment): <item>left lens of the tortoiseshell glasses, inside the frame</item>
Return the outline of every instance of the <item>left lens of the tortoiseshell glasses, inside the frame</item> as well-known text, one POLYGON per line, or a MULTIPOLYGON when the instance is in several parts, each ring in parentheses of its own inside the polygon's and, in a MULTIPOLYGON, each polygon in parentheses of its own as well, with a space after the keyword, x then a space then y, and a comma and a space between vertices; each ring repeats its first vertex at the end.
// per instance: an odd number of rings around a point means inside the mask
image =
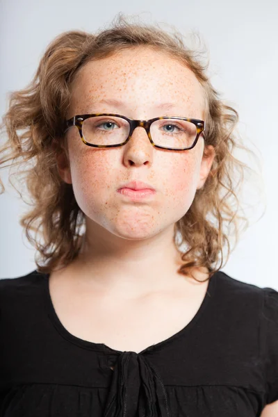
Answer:
POLYGON ((119 145, 129 136, 129 122, 121 117, 94 116, 85 119, 83 137, 92 145, 119 145))

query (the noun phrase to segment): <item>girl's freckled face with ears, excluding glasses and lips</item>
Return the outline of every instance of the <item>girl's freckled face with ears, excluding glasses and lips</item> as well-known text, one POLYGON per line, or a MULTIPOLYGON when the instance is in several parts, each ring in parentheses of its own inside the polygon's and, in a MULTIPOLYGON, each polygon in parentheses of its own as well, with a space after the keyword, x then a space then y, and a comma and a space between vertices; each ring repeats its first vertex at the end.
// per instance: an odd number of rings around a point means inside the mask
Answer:
MULTIPOLYGON (((204 95, 193 72, 164 53, 149 48, 121 51, 87 63, 71 85, 67 119, 77 114, 117 113, 131 119, 158 116, 204 120, 204 95), (101 103, 117 99, 121 105, 101 103), (164 102, 172 108, 158 108, 164 102)), ((126 239, 155 236, 183 217, 196 190, 206 181, 212 154, 203 158, 204 139, 193 149, 175 152, 152 146, 145 129, 133 131, 122 147, 101 149, 85 145, 76 126, 66 133, 70 167, 57 160, 61 177, 72 183, 86 225, 126 239), (117 189, 129 181, 149 183, 152 197, 134 202, 117 189), (101 228, 100 228, 101 230, 101 228)))

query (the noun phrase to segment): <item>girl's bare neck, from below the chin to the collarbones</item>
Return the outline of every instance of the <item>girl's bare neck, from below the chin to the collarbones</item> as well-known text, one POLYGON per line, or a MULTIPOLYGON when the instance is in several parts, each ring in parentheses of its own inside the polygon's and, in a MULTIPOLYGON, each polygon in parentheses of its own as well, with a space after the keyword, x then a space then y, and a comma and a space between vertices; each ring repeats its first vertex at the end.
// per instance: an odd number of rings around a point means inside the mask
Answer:
MULTIPOLYGON (((95 229, 96 230, 96 229, 95 229)), ((174 227, 152 238, 128 240, 109 234, 85 234, 72 263, 80 279, 100 291, 136 295, 170 288, 184 281, 177 272, 181 253, 174 245, 174 227)))

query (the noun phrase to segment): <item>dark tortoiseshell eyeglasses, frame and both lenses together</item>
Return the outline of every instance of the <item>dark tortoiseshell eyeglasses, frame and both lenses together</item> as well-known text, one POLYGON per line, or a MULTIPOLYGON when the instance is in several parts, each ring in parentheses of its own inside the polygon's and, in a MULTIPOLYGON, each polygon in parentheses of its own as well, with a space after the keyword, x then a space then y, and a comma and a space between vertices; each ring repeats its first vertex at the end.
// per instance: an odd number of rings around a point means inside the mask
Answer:
POLYGON ((150 120, 133 120, 113 113, 76 115, 65 121, 65 131, 79 129, 85 145, 99 148, 125 145, 136 127, 147 132, 149 141, 159 149, 185 151, 195 147, 205 129, 205 122, 188 117, 162 116, 150 120))

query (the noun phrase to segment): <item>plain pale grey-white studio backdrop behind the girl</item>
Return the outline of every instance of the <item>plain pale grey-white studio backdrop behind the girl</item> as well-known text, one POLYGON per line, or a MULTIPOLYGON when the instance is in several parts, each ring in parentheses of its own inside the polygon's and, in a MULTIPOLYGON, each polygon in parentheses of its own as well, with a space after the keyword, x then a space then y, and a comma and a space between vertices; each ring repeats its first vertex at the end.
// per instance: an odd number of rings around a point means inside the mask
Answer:
MULTIPOLYGON (((222 98, 239 112, 238 130, 259 158, 265 193, 258 197, 251 185, 259 179, 247 179, 243 195, 253 204, 245 211, 251 226, 222 270, 240 281, 278 290, 277 1, 0 0, 1 115, 8 93, 31 81, 56 35, 71 29, 96 31, 120 12, 166 30, 174 25, 186 36, 197 32, 204 40, 208 74, 222 98)), ((256 169, 247 154, 236 156, 256 169)), ((0 277, 14 278, 35 270, 35 250, 19 226, 19 215, 28 206, 8 184, 8 168, 0 175, 6 187, 0 196, 0 277)))

